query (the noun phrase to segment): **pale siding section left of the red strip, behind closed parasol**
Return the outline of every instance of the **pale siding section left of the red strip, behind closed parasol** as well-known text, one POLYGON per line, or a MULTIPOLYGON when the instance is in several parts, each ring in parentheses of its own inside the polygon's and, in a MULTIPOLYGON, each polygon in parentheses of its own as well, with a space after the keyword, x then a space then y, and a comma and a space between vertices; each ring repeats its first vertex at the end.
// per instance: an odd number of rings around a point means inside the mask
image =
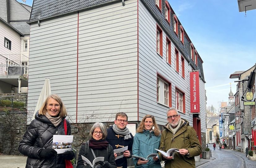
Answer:
POLYGON ((62 97, 69 113, 76 104, 77 14, 30 26, 28 119, 44 84, 50 78, 51 93, 62 97))

